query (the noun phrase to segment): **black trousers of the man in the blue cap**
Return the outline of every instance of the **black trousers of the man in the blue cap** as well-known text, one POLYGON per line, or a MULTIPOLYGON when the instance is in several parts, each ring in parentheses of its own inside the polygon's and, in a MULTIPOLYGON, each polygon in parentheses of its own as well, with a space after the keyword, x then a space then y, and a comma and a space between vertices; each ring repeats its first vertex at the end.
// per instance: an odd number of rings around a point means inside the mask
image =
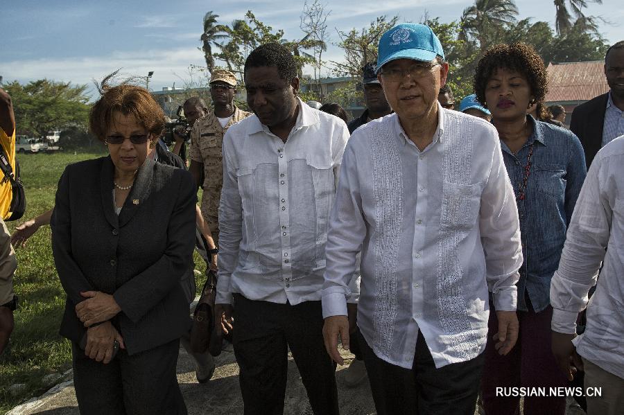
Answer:
POLYGON ((483 370, 483 353, 467 362, 435 369, 419 332, 412 369, 381 360, 360 330, 359 346, 377 415, 474 415, 483 370))

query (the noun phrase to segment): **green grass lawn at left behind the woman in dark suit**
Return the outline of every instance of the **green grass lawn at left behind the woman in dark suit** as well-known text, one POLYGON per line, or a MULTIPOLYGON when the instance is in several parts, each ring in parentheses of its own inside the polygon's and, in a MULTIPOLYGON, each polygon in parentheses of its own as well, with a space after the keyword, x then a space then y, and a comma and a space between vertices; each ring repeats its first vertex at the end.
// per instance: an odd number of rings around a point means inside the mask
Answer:
MULTIPOLYGON (((18 154, 21 179, 26 189, 26 214, 21 220, 8 222, 9 231, 53 207, 56 185, 67 164, 104 154, 18 154)), ((0 362, 2 415, 15 405, 49 389, 51 385, 43 383, 44 376, 71 369, 71 344, 58 335, 65 294, 54 267, 50 227, 40 228, 28 239, 26 248, 17 248, 16 252, 18 268, 13 285, 19 296, 19 309, 15 312, 10 353, 0 362), (11 396, 7 388, 16 383, 25 383, 26 389, 17 396, 11 396)), ((203 275, 205 265, 197 254, 195 262, 203 275)), ((198 279, 198 289, 204 280, 198 279)))

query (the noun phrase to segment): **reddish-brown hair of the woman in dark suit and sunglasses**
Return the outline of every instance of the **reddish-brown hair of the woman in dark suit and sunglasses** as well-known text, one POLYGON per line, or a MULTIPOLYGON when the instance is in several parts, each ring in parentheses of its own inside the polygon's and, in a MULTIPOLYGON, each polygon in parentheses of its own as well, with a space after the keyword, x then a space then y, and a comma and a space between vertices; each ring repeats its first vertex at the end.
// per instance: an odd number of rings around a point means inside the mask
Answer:
POLYGON ((102 95, 89 114, 89 130, 100 141, 105 141, 114 114, 132 114, 137 123, 157 139, 164 130, 164 113, 147 89, 136 85, 121 84, 116 87, 103 86, 102 95))

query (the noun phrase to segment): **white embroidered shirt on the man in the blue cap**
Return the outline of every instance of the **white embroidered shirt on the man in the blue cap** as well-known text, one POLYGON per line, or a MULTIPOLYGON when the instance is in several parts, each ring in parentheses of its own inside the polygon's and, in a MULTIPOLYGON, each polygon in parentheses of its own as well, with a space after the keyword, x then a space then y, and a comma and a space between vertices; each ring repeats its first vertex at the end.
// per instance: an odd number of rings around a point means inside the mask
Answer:
POLYGON ((486 121, 443 109, 419 151, 397 114, 349 139, 327 241, 323 317, 346 315, 362 247, 358 326, 374 353, 411 368, 418 330, 436 367, 485 349, 488 288, 516 310, 522 250, 499 136, 486 121))

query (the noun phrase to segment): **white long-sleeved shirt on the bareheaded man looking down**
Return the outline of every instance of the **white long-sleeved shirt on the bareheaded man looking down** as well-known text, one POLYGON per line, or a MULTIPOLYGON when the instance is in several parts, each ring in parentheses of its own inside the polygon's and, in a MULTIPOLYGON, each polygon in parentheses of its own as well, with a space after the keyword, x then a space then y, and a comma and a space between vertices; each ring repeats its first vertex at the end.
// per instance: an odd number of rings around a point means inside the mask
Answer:
POLYGON ((292 305, 319 301, 340 162, 349 139, 340 118, 299 100, 286 143, 257 116, 223 138, 216 302, 237 292, 292 305))

